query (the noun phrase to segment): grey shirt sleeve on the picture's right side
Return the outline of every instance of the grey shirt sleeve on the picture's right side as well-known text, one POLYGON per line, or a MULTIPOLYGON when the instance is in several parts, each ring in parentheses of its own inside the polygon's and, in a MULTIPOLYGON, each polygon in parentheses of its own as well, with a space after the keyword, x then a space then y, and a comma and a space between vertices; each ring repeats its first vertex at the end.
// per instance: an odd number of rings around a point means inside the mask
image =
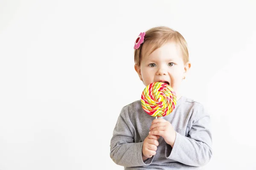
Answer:
POLYGON ((176 132, 173 148, 166 144, 165 155, 190 166, 203 166, 212 157, 212 134, 210 132, 210 117, 204 107, 198 109, 189 136, 182 136, 176 132))

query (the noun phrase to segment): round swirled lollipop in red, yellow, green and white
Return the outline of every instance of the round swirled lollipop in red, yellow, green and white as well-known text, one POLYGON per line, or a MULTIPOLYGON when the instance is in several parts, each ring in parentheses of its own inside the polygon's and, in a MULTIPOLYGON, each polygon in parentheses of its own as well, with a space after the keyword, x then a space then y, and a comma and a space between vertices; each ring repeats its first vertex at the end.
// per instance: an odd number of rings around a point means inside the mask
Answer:
POLYGON ((176 105, 175 91, 164 82, 153 82, 145 87, 141 95, 141 105, 150 116, 167 116, 176 105))

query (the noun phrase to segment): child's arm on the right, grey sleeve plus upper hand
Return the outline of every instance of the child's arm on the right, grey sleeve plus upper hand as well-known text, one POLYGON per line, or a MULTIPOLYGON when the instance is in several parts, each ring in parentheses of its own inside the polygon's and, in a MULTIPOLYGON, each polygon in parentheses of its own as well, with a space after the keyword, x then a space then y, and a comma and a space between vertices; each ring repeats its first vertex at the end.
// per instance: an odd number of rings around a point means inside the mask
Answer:
POLYGON ((169 122, 164 122, 165 120, 155 120, 155 122, 158 121, 158 123, 151 126, 151 129, 153 129, 150 134, 163 136, 166 143, 169 143, 166 144, 165 151, 167 159, 172 159, 190 166, 203 166, 207 164, 212 157, 210 117, 205 113, 202 105, 198 105, 193 109, 194 117, 192 116, 191 118, 193 122, 188 137, 176 132, 176 138, 172 139, 172 137, 175 136, 175 134, 172 133, 173 127, 169 122), (170 125, 168 125, 168 123, 170 125), (171 133, 172 135, 169 136, 171 133))

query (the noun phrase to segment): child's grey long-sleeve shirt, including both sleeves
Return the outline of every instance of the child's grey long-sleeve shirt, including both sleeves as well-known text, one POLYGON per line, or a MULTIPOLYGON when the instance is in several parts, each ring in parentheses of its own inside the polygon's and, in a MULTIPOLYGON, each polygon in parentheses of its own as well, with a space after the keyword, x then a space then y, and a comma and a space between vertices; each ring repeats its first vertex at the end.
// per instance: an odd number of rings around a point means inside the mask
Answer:
POLYGON ((182 96, 174 111, 158 118, 169 121, 176 131, 173 148, 162 137, 158 139, 157 153, 142 160, 143 141, 148 136, 151 122, 140 100, 122 108, 111 139, 111 159, 125 170, 199 169, 212 156, 210 117, 201 103, 182 96))

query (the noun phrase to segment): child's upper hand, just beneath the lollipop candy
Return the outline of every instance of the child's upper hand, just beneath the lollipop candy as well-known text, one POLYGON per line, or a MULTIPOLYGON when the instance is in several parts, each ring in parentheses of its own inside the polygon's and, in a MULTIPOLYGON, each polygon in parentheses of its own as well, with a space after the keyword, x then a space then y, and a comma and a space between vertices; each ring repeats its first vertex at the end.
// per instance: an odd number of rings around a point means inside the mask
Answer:
POLYGON ((176 132, 170 122, 165 119, 154 119, 149 130, 150 135, 162 136, 165 142, 173 147, 176 139, 176 132))

